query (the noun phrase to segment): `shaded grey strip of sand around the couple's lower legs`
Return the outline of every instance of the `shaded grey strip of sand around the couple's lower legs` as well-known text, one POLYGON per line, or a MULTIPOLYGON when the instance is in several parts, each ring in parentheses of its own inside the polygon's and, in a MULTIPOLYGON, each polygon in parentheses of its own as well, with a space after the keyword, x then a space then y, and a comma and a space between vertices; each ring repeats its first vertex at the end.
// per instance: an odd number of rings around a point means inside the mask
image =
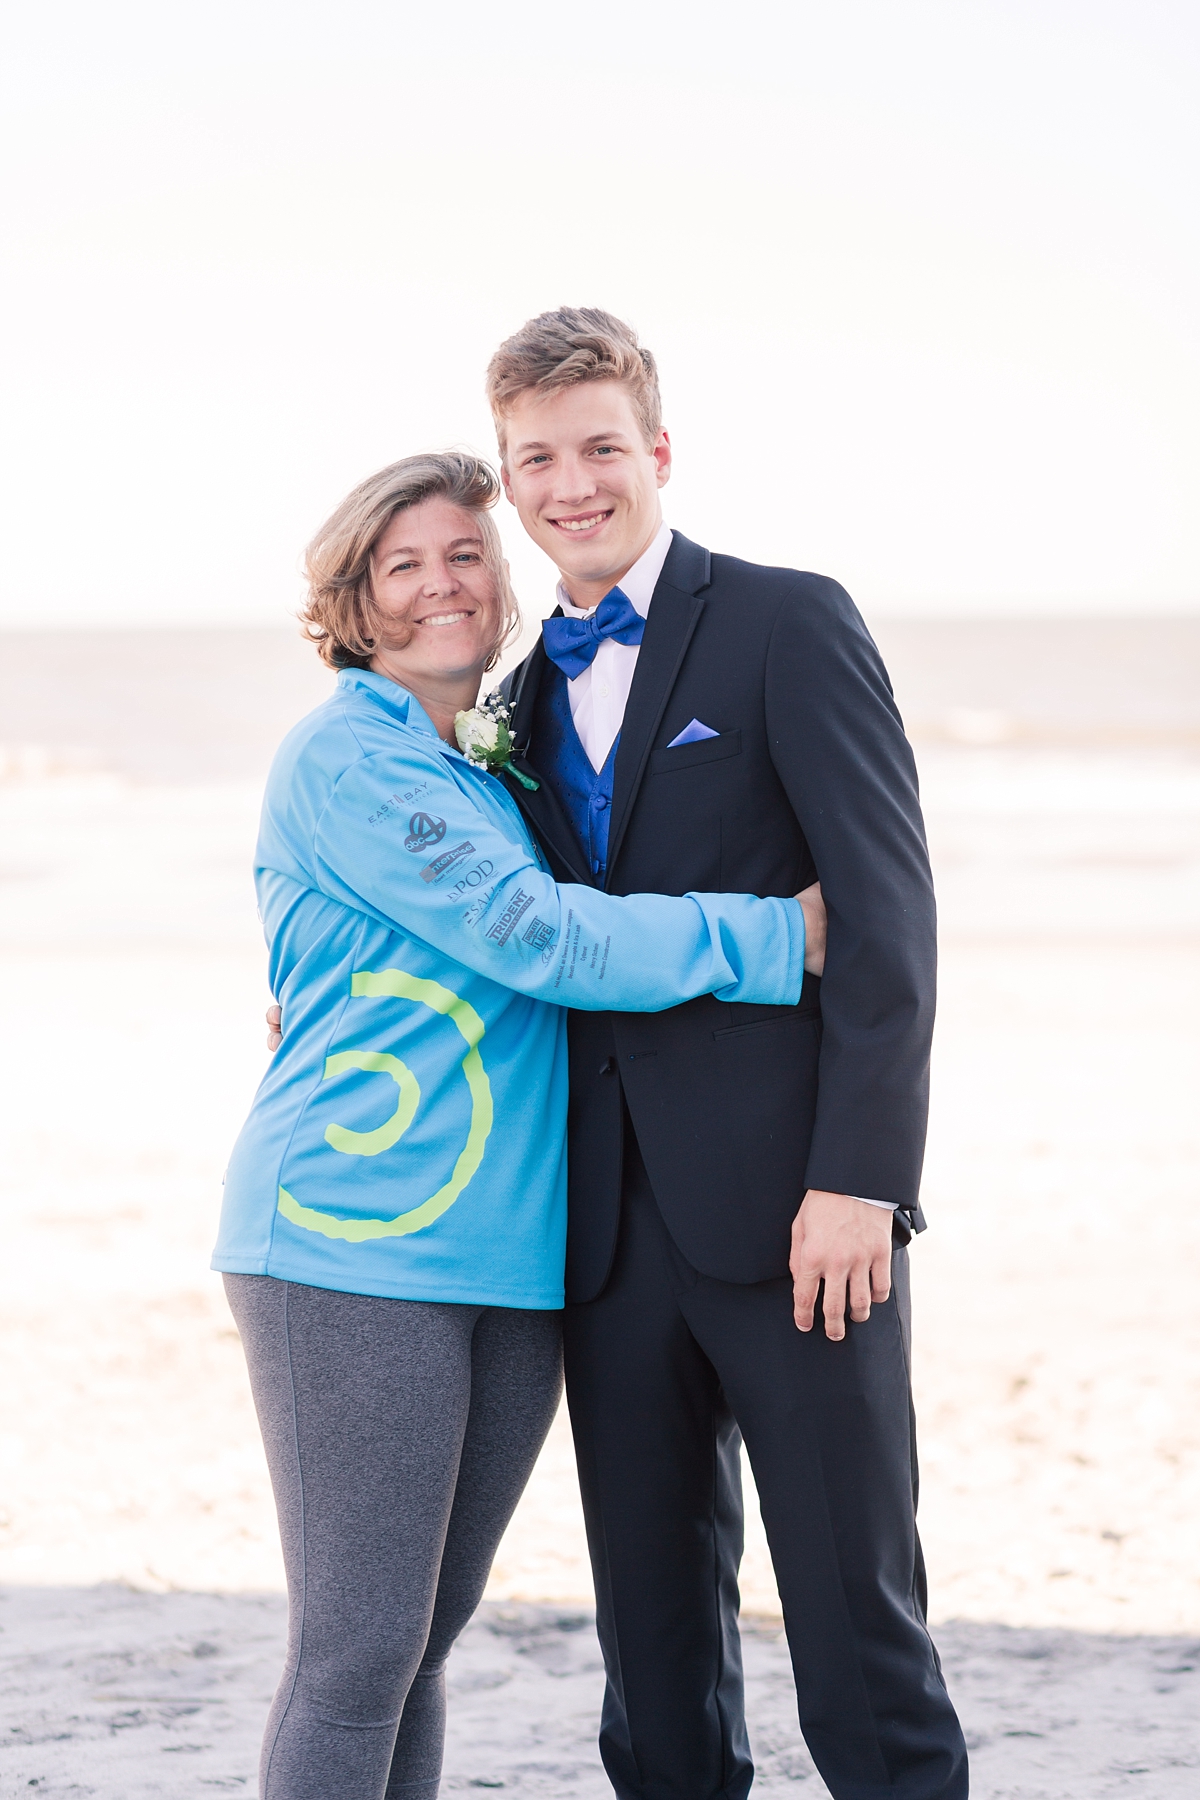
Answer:
MULTIPOLYGON (((254 1793, 279 1672, 279 1595, 124 1586, 0 1600, 4 1793, 151 1800, 254 1793)), ((937 1631, 977 1800, 1191 1800, 1196 1638, 957 1622, 937 1631)), ((754 1791, 828 1800, 795 1723, 779 1622, 743 1624, 754 1791)), ((587 1609, 489 1602, 450 1663, 446 1793, 604 1800, 603 1690, 587 1609)))

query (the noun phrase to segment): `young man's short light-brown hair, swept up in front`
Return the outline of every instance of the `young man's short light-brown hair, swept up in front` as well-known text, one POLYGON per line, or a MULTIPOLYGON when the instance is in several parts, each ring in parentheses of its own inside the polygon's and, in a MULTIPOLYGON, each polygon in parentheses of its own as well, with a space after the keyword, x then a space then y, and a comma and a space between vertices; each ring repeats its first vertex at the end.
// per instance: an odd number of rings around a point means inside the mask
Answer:
POLYGON ((506 338, 488 364, 488 403, 500 455, 507 416, 520 394, 558 394, 579 382, 621 382, 628 389, 646 443, 662 430, 658 367, 626 326, 599 306, 560 306, 538 313, 506 338))

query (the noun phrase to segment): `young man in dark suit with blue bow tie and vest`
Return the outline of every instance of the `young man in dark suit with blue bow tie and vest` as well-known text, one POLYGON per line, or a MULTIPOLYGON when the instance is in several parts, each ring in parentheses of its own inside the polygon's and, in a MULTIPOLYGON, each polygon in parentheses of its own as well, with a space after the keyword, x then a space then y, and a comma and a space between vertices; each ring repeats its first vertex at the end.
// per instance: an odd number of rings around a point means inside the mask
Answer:
POLYGON ((750 1787, 745 1438, 831 1795, 963 1800, 909 1393, 934 895, 887 673, 837 581, 662 524, 671 446, 628 326, 545 313, 488 392, 507 497, 561 574, 506 684, 538 781, 511 792, 554 875, 667 895, 819 878, 828 907, 799 1006, 569 1019, 567 1388, 604 1768, 621 1800, 750 1787))

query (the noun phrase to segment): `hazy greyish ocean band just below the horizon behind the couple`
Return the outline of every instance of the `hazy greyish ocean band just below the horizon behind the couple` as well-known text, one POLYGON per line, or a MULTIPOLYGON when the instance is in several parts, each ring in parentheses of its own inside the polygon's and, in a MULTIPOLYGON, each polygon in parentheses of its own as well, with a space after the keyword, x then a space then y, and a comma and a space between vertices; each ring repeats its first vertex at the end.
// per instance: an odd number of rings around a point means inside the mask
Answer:
MULTIPOLYGON (((1200 617, 880 619, 874 634, 918 742, 1200 747, 1200 617)), ((0 632, 0 767, 255 779, 329 684, 299 630, 0 632)))

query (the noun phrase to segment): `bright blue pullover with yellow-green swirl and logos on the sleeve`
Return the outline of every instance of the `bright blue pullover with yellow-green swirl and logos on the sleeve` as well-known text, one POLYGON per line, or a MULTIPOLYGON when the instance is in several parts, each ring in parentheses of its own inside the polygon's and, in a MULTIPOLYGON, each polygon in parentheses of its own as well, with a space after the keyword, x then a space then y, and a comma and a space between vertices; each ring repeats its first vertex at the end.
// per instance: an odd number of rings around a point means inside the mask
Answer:
POLYGON ((561 1307, 563 1008, 801 995, 795 900, 558 887, 504 783, 362 670, 279 749, 255 862, 284 1040, 214 1269, 561 1307))

